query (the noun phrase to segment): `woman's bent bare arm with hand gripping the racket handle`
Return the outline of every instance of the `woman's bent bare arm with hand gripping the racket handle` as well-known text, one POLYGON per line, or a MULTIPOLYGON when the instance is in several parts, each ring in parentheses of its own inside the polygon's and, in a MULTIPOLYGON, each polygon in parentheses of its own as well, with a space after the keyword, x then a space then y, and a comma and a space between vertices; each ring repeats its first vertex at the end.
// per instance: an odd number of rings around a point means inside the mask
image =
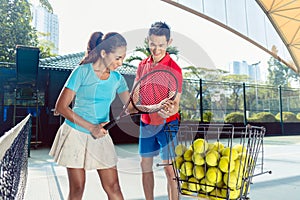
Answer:
POLYGON ((55 112, 61 114, 69 121, 86 128, 96 138, 99 138, 106 134, 107 131, 103 129, 100 124, 92 124, 84 120, 70 108, 70 104, 72 103, 75 95, 76 93, 73 90, 64 87, 56 101, 55 112))

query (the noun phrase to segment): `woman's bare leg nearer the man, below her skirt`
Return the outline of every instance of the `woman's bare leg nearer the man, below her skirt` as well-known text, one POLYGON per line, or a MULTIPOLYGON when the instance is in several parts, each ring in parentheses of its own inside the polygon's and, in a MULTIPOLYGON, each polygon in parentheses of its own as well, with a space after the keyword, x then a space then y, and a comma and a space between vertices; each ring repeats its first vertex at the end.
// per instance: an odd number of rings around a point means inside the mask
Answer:
POLYGON ((123 194, 119 184, 118 171, 116 167, 97 170, 102 187, 109 200, 123 200, 123 194))

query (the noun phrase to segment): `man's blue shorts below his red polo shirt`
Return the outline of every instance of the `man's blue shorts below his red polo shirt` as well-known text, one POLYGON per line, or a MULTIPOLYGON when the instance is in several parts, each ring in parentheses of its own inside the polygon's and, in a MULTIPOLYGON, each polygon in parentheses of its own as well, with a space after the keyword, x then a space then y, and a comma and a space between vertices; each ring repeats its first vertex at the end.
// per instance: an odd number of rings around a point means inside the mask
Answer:
POLYGON ((139 153, 142 157, 160 154, 162 160, 171 160, 177 145, 178 120, 162 125, 140 123, 139 153), (171 157, 172 156, 172 157, 171 157))

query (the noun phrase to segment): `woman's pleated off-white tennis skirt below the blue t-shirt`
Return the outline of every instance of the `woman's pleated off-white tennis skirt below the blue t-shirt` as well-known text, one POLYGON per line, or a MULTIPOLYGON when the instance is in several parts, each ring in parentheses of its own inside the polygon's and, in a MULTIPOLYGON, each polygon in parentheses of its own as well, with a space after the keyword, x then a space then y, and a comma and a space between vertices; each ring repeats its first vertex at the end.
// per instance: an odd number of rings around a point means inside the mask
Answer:
POLYGON ((109 134, 94 139, 66 123, 58 129, 49 155, 58 165, 86 170, 111 168, 118 160, 109 134))

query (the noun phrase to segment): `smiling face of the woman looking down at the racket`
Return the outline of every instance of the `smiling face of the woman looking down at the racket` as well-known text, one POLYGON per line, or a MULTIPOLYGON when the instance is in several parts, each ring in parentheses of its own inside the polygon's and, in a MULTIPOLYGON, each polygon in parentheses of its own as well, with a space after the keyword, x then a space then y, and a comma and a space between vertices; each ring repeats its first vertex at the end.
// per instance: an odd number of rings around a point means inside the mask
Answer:
POLYGON ((110 71, 114 71, 123 64, 123 60, 126 56, 126 47, 117 47, 110 53, 106 53, 102 50, 101 54, 105 67, 107 67, 110 71))

